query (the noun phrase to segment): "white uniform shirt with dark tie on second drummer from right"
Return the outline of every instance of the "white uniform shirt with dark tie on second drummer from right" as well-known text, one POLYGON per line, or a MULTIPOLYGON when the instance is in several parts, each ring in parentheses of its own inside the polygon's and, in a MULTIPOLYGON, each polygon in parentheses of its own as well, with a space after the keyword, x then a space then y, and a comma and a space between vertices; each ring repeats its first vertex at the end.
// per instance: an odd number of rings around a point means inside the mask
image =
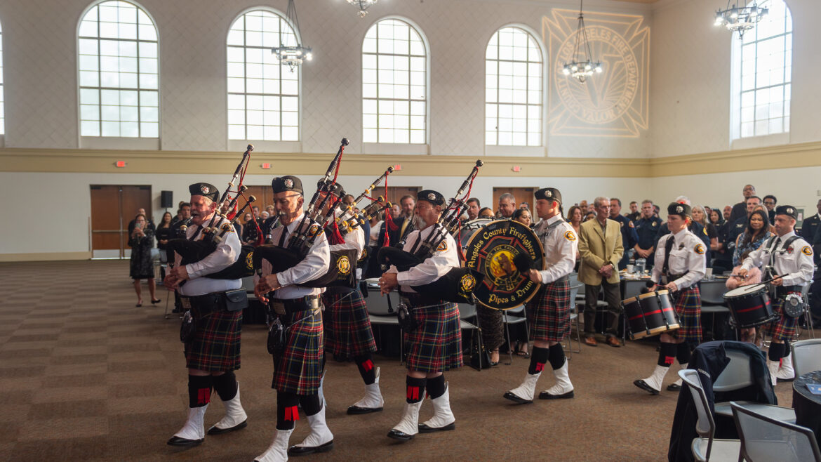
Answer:
POLYGON ((667 262, 667 272, 671 275, 686 275, 677 280, 667 281, 676 284, 678 289, 686 289, 704 279, 707 272, 707 258, 704 241, 699 239, 690 229, 683 229, 675 234, 665 234, 658 239, 652 278, 655 282, 661 281, 664 267, 664 248, 667 241, 673 239, 670 249, 670 261, 667 262))

